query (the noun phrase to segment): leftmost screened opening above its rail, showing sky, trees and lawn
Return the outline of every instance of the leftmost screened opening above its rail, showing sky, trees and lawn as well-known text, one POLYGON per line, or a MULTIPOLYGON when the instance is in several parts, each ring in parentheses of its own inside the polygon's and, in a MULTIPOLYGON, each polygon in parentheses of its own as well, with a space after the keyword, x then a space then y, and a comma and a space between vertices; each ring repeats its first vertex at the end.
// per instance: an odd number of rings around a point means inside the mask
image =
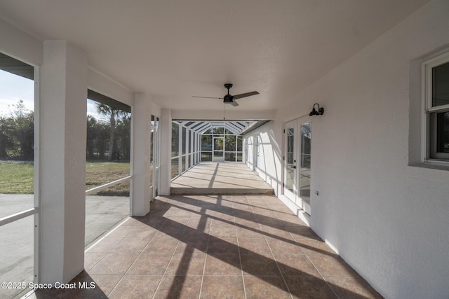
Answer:
POLYGON ((31 76, 0 70, 0 218, 34 207, 34 68, 7 61, 31 76))

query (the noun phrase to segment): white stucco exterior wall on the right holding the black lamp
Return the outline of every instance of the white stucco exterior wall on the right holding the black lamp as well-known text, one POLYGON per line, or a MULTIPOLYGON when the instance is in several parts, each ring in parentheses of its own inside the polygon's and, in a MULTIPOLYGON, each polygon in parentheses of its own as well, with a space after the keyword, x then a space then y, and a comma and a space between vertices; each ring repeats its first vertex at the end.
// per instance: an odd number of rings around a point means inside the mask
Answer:
MULTIPOLYGON (((315 102, 325 108, 311 118, 310 225, 386 298, 449 298, 449 169, 408 166, 409 122, 420 127, 409 118, 420 68, 410 66, 449 50, 448 16, 449 1, 432 1, 276 114, 285 123, 315 102)), ((282 126, 260 134, 283 148, 282 126)), ((280 177, 274 165, 264 172, 280 177)))

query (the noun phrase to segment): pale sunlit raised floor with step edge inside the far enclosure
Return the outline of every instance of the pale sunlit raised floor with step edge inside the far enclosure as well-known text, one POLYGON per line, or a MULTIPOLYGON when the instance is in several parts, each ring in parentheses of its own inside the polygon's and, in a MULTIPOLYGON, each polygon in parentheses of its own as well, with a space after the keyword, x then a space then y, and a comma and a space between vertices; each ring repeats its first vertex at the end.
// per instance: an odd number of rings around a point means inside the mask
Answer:
POLYGON ((274 194, 242 162, 201 162, 171 182, 171 194, 274 194))

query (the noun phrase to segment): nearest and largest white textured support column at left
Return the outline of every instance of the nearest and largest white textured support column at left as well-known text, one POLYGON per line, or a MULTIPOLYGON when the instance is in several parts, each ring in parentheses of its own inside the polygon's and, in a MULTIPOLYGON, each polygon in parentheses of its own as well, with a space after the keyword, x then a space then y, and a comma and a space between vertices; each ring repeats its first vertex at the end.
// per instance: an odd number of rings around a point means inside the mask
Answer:
POLYGON ((84 267, 87 57, 66 41, 43 49, 38 281, 54 284, 84 267))

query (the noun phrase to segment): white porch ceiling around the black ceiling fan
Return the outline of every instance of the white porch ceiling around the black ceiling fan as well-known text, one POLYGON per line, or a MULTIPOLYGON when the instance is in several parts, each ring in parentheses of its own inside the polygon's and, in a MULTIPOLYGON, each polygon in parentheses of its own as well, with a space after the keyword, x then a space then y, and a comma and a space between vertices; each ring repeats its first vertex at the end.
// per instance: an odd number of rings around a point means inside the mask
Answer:
POLYGON ((293 99, 429 0, 0 0, 0 17, 65 39, 171 109, 266 111, 293 99))

